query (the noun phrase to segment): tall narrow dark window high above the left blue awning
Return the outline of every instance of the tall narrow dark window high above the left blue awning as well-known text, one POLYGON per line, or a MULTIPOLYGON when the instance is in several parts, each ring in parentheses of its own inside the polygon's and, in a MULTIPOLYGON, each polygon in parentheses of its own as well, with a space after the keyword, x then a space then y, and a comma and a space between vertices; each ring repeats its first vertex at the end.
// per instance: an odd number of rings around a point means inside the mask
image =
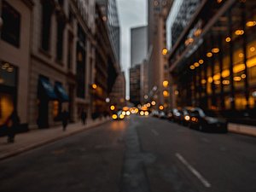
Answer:
POLYGON ((42 3, 41 47, 45 51, 49 51, 51 12, 52 12, 52 8, 51 8, 50 3, 48 1, 44 1, 42 3))

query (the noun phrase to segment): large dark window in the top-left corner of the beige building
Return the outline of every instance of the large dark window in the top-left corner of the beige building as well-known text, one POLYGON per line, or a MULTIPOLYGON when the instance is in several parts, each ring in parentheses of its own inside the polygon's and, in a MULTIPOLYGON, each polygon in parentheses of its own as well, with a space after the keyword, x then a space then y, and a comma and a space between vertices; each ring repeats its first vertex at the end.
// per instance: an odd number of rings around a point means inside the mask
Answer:
POLYGON ((20 46, 20 13, 9 3, 3 1, 2 6, 3 28, 1 38, 9 44, 20 46))

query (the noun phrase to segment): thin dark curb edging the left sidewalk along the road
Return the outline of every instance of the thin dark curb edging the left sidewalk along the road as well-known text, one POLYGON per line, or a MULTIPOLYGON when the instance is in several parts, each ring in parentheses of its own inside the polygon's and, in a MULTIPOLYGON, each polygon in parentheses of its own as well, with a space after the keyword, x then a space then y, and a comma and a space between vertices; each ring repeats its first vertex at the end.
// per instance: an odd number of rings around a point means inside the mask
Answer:
POLYGON ((22 153, 24 153, 26 151, 30 151, 30 150, 32 150, 34 148, 40 148, 40 147, 44 146, 45 144, 54 143, 54 142, 56 142, 58 140, 61 140, 63 138, 71 137, 73 135, 78 134, 79 132, 87 131, 87 130, 90 130, 90 129, 96 127, 96 126, 106 124, 109 121, 110 121, 110 119, 106 119, 105 121, 96 123, 95 125, 89 125, 88 127, 82 128, 82 129, 80 129, 78 131, 73 131, 73 132, 67 133, 66 135, 63 135, 63 136, 51 138, 51 139, 49 139, 47 141, 43 141, 41 143, 34 143, 32 145, 26 146, 25 148, 19 148, 19 149, 15 150, 15 151, 10 152, 9 154, 3 155, 2 157, 0 157, 0 160, 6 160, 6 159, 8 159, 10 157, 14 157, 14 156, 16 156, 18 154, 22 154, 22 153))

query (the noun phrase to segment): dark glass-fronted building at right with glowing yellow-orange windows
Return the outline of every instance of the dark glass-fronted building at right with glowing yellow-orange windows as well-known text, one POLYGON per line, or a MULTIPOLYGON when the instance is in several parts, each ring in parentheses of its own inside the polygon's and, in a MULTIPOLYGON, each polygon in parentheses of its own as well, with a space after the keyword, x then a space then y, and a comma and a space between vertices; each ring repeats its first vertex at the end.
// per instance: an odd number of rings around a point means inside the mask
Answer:
POLYGON ((255 118, 255 5, 253 0, 198 4, 168 58, 178 106, 255 118))

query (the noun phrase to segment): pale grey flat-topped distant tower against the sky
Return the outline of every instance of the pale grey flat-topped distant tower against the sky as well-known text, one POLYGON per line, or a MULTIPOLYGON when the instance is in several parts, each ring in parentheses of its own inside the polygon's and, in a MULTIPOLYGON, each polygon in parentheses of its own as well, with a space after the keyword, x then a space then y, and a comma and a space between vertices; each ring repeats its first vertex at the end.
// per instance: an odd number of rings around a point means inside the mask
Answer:
POLYGON ((131 28, 131 67, 140 65, 148 53, 148 27, 131 28))

